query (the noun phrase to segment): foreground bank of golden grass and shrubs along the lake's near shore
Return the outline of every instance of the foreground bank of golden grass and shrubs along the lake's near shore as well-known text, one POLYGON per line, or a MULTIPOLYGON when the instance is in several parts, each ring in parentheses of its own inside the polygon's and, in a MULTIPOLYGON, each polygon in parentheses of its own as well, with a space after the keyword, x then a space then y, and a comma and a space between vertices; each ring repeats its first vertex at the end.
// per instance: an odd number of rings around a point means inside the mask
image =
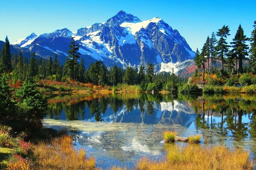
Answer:
MULTIPOLYGON (((63 135, 43 142, 25 142, 1 129, 0 161, 6 170, 96 170, 94 158, 87 158, 83 149, 73 147, 72 137, 63 135), (5 137, 3 137, 5 136, 5 137)), ((166 133, 167 135, 167 133, 166 133)), ((175 134, 174 134, 175 136, 175 134)), ((167 136, 170 137, 170 136, 167 136)), ((171 134, 171 137, 173 135, 171 134)), ((192 143, 192 142, 191 142, 192 143)), ((141 158, 137 170, 253 170, 249 152, 228 150, 223 146, 189 144, 186 147, 167 144, 162 161, 141 158)), ((111 170, 126 168, 112 167, 111 170)))

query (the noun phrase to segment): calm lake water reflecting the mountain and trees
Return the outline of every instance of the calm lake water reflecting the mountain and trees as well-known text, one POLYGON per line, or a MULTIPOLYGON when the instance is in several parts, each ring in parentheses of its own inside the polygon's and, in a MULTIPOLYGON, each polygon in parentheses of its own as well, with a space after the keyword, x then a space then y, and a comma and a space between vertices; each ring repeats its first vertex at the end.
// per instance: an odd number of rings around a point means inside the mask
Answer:
MULTIPOLYGON (((80 94, 49 99, 44 126, 66 128, 79 137, 77 148, 96 158, 97 167, 132 168, 141 157, 163 159, 163 132, 201 134, 208 145, 256 153, 256 96, 183 94, 80 94)), ((185 143, 176 143, 186 146, 185 143)))

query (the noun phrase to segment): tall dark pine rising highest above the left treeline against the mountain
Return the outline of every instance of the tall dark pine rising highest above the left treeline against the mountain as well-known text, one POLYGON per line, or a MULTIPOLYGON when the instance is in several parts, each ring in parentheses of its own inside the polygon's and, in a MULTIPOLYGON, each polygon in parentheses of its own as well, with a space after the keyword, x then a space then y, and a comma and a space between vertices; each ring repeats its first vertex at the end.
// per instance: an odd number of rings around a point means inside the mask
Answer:
POLYGON ((67 51, 70 55, 68 57, 70 57, 70 63, 69 63, 69 69, 70 69, 70 79, 75 79, 75 75, 74 75, 74 71, 75 71, 75 65, 77 64, 77 59, 79 59, 80 57, 80 53, 79 51, 79 45, 75 43, 75 39, 74 37, 72 38, 72 42, 70 45, 70 50, 67 51))

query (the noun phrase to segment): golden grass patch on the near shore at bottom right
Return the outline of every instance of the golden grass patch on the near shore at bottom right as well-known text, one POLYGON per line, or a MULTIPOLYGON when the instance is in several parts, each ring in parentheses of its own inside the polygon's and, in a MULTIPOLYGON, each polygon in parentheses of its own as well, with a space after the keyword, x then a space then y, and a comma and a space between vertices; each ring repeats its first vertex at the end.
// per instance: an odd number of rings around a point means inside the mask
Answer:
POLYGON ((249 152, 228 150, 222 146, 206 147, 188 145, 171 146, 167 160, 152 161, 146 158, 137 163, 137 170, 253 170, 249 152))

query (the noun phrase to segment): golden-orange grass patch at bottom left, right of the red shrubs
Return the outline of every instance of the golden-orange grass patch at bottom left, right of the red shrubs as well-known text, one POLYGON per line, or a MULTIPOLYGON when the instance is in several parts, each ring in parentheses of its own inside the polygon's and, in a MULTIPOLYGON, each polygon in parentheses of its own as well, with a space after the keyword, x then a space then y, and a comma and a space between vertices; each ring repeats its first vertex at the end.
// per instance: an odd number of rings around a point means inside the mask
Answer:
POLYGON ((85 158, 84 150, 75 150, 71 136, 52 139, 50 144, 32 147, 36 167, 40 170, 94 170, 95 159, 85 158))

